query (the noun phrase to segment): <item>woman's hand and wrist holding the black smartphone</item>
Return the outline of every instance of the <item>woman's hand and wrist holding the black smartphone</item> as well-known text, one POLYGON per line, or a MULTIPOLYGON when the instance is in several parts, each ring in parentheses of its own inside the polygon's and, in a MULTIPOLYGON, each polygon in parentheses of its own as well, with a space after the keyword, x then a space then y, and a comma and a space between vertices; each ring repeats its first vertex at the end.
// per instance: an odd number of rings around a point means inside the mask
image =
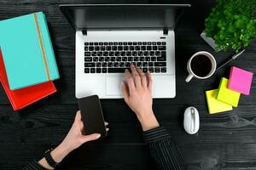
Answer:
MULTIPOLYGON (((108 125, 108 122, 105 122, 105 126, 108 125)), ((77 111, 73 126, 70 128, 67 133, 66 138, 58 145, 55 150, 52 150, 50 155, 56 162, 61 162, 65 156, 67 156, 72 150, 77 149, 80 145, 89 142, 91 140, 96 140, 101 137, 99 133, 93 133, 89 135, 84 135, 84 123, 82 122, 82 116, 80 111, 77 111)), ((109 129, 106 127, 106 130, 109 129)), ((39 163, 48 169, 53 169, 49 167, 46 160, 43 158, 39 163)))

